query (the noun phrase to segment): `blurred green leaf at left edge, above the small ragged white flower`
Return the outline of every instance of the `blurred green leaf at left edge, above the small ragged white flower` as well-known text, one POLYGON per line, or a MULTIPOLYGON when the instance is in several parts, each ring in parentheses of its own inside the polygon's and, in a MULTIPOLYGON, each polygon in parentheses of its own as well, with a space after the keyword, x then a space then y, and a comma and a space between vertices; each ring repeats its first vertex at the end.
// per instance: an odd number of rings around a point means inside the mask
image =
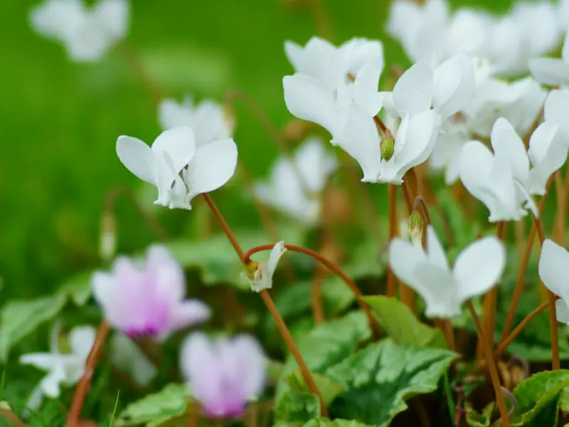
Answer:
POLYGON ((21 339, 44 322, 53 319, 63 308, 67 297, 56 293, 37 300, 7 302, 0 313, 0 362, 21 339))

